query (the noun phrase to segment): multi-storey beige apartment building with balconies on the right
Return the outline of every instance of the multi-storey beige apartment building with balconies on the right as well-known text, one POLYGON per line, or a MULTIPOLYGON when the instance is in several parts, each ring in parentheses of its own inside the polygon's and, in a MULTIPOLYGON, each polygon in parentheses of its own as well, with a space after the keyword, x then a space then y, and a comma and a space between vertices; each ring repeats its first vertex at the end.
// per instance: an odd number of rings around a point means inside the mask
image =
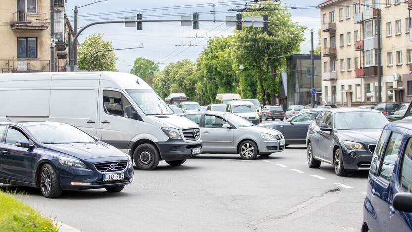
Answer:
POLYGON ((411 101, 408 4, 411 0, 326 0, 318 5, 324 103, 359 106, 378 101, 377 10, 381 10, 382 101, 411 101))

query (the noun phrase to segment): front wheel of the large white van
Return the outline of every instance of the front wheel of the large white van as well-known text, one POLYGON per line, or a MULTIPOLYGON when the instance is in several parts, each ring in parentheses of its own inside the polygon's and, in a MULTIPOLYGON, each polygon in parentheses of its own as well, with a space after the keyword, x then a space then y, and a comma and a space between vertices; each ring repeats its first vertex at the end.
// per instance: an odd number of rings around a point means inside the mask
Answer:
POLYGON ((140 170, 152 170, 157 167, 160 155, 152 144, 141 144, 133 152, 133 160, 140 170))

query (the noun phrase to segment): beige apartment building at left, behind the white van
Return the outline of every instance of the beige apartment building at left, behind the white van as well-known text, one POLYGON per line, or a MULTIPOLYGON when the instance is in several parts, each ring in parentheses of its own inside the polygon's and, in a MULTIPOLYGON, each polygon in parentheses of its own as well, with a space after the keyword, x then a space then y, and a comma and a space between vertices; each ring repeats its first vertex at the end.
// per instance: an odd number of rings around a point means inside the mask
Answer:
MULTIPOLYGON (((50 70, 50 0, 1 0, 0 71, 45 72, 50 70)), ((54 0, 55 64, 65 71, 68 36, 66 0, 54 0)), ((72 35, 71 35, 72 36, 72 35)))

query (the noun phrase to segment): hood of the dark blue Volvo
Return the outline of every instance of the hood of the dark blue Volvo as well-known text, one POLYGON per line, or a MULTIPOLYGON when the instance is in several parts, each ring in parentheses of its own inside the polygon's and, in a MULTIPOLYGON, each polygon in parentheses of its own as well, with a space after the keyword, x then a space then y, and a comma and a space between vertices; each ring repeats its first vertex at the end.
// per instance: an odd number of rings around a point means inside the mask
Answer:
MULTIPOLYGON (((67 143, 45 144, 49 150, 67 154, 81 160, 127 155, 119 149, 103 142, 97 143, 67 143)), ((47 151, 46 151, 47 152, 47 151)))

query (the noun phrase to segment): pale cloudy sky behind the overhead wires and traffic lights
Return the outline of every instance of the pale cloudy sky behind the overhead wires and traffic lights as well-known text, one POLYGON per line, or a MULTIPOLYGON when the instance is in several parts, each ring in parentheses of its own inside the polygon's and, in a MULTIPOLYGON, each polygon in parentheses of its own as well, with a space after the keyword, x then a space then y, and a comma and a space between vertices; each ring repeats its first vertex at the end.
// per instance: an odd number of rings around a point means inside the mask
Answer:
MULTIPOLYGON (((74 25, 73 8, 83 6, 97 0, 67 0, 67 16, 74 25)), ((234 16, 236 9, 242 7, 251 0, 107 0, 89 6, 79 8, 78 27, 81 28, 94 21, 124 20, 126 16, 143 14, 143 19, 180 19, 180 15, 192 15, 199 13, 199 19, 212 20, 213 4, 215 4, 216 20, 225 20, 226 16, 234 16), (223 3, 224 2, 224 3, 223 3), (195 4, 205 4, 193 6, 195 4), (188 6, 190 5, 190 6, 188 6), (176 7, 181 6, 181 7, 176 7), (163 9, 161 7, 176 7, 178 9, 163 9), (154 9, 157 8, 157 9, 154 9), (104 13, 104 15, 102 15, 104 13), (101 14, 101 15, 93 15, 101 14), (175 16, 170 16, 175 14, 175 16)), ((291 9, 292 20, 299 22, 308 29, 315 31, 315 46, 318 41, 317 30, 320 28, 320 10, 314 8, 324 0, 282 0, 282 5, 298 7, 291 9), (301 7, 308 6, 306 9, 301 7)), ((221 22, 200 22, 199 30, 192 27, 182 27, 179 22, 144 23, 143 30, 138 31, 133 27, 125 27, 124 24, 96 25, 87 28, 79 37, 80 43, 91 34, 103 33, 103 39, 111 41, 115 49, 140 47, 143 48, 116 51, 118 58, 116 68, 120 72, 130 72, 133 61, 138 57, 153 60, 163 69, 170 62, 182 59, 196 61, 199 53, 207 45, 207 37, 227 36, 233 33, 234 27, 226 27, 221 22), (198 37, 198 38, 196 38, 198 37), (201 38, 199 38, 201 37, 201 38), (202 38, 203 37, 203 38, 202 38), (206 37, 206 38, 204 38, 206 37), (183 47, 179 45, 192 45, 183 47)), ((301 44, 301 53, 310 52, 310 31, 305 31, 305 41, 301 44)))

